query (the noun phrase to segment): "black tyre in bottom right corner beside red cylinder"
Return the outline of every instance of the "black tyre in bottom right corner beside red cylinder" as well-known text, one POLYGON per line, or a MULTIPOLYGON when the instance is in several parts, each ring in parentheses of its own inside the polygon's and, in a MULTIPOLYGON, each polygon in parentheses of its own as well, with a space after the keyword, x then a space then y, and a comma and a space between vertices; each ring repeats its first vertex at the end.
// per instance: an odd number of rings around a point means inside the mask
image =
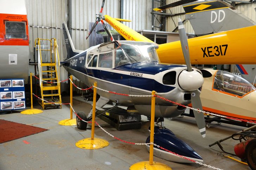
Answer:
POLYGON ((251 169, 256 169, 256 139, 251 140, 245 148, 245 158, 251 169))

